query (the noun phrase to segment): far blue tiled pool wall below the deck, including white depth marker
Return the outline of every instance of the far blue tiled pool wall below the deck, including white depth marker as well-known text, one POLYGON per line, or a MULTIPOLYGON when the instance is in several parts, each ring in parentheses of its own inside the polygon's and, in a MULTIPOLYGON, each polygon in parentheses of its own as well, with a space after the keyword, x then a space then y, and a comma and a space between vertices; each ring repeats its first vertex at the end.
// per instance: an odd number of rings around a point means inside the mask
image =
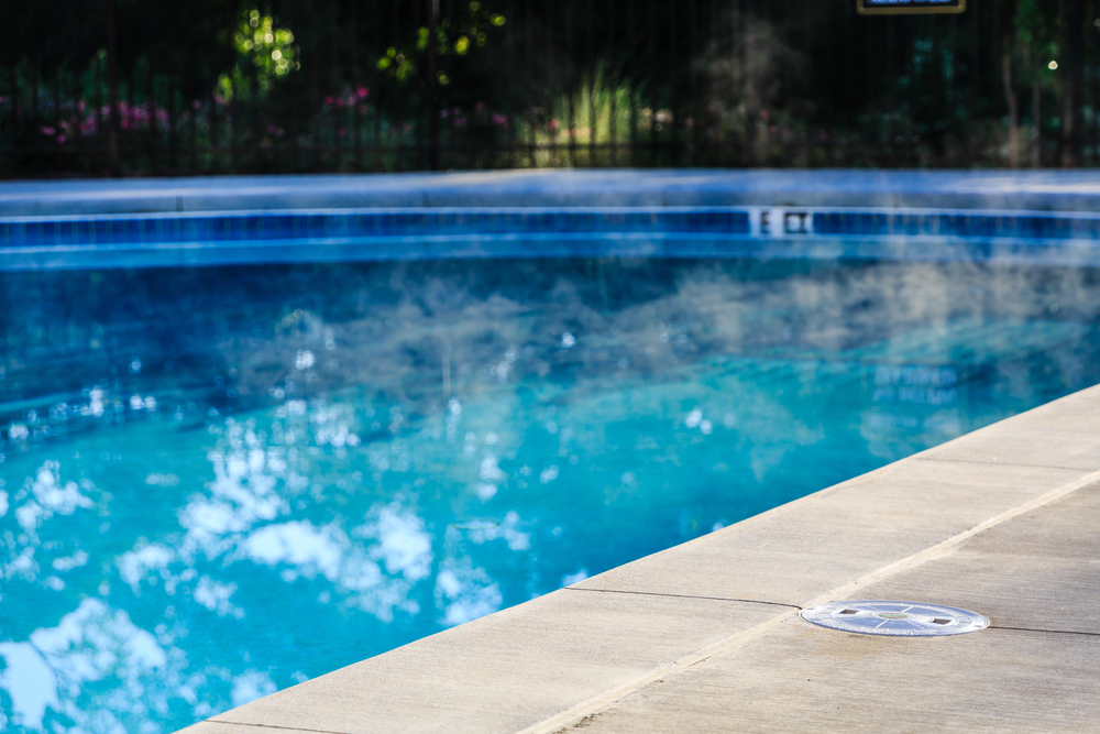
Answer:
POLYGON ((0 271, 575 255, 1100 266, 1100 215, 657 206, 0 218, 0 271))

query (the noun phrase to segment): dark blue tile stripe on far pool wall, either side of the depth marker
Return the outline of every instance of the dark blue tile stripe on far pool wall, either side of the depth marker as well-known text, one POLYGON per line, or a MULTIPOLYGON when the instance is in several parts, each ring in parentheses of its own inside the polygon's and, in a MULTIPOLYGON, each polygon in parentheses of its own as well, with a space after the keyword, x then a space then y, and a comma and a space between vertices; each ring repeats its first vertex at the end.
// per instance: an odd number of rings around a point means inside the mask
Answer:
MULTIPOLYGON (((748 235, 749 210, 380 210, 0 220, 0 247, 141 245, 376 237, 748 235)), ((817 237, 1100 240, 1100 218, 1034 212, 815 210, 817 237)))

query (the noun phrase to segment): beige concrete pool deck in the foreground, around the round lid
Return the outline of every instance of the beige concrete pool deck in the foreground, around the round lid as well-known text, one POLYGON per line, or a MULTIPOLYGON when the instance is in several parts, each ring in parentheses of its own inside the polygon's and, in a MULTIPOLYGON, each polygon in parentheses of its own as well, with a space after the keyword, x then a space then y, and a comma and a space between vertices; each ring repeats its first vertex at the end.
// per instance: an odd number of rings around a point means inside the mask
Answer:
POLYGON ((1100 386, 190 726, 1100 732, 1100 386), (811 625, 895 599, 990 627, 811 625))

